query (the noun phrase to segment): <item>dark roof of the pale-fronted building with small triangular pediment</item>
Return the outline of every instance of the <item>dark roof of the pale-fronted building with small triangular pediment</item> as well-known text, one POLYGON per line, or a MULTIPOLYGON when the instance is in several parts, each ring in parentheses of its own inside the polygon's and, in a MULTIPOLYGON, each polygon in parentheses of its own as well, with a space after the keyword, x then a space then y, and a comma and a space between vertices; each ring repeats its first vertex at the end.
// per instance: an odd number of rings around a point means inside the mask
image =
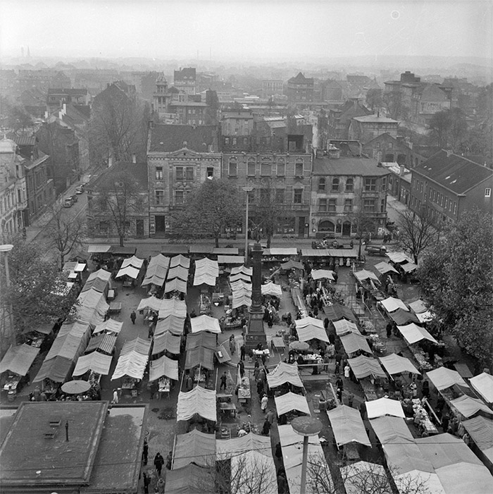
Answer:
POLYGON ((178 151, 187 142, 187 149, 208 152, 209 146, 216 148, 216 125, 163 125, 156 124, 151 130, 149 152, 169 153, 178 151), (206 144, 204 146, 204 144, 206 144))

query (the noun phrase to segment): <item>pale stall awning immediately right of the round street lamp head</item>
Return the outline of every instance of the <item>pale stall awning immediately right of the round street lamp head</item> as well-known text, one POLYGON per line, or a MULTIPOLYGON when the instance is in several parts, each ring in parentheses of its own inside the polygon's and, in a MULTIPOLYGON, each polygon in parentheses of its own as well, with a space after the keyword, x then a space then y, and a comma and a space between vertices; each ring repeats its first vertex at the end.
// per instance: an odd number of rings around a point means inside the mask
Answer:
POLYGON ((327 410, 332 432, 334 433, 337 447, 344 444, 359 443, 371 447, 365 424, 361 414, 356 408, 340 405, 332 410, 327 410))

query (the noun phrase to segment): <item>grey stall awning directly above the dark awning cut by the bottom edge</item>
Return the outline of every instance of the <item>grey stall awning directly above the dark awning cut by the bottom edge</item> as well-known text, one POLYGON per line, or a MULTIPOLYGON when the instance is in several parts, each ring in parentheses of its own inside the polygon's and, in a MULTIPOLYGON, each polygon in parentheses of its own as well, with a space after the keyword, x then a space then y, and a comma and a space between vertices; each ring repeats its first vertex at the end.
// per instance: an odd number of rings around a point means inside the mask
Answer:
POLYGON ((173 470, 194 463, 201 467, 210 467, 216 462, 216 436, 197 429, 175 436, 173 451, 173 470))

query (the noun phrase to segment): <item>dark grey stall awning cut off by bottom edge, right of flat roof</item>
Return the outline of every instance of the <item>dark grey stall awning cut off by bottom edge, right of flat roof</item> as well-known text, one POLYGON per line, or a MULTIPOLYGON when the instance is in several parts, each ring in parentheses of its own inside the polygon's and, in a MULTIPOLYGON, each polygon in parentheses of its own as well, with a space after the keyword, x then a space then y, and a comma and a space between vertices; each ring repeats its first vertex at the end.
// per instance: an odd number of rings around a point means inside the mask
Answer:
POLYGON ((166 473, 166 494, 213 494, 214 469, 190 463, 186 467, 166 473))

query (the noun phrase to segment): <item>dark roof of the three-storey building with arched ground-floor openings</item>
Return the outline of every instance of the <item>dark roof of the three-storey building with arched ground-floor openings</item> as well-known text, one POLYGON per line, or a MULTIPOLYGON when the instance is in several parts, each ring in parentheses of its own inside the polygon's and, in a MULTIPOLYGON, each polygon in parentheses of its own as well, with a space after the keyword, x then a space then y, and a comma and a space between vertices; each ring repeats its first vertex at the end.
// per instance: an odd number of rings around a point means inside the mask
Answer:
MULTIPOLYGON (((377 165, 370 158, 342 156, 338 159, 314 158, 313 175, 361 175, 363 177, 382 177, 389 175, 387 168, 377 165)), ((304 249, 302 249, 304 250, 304 249)))

